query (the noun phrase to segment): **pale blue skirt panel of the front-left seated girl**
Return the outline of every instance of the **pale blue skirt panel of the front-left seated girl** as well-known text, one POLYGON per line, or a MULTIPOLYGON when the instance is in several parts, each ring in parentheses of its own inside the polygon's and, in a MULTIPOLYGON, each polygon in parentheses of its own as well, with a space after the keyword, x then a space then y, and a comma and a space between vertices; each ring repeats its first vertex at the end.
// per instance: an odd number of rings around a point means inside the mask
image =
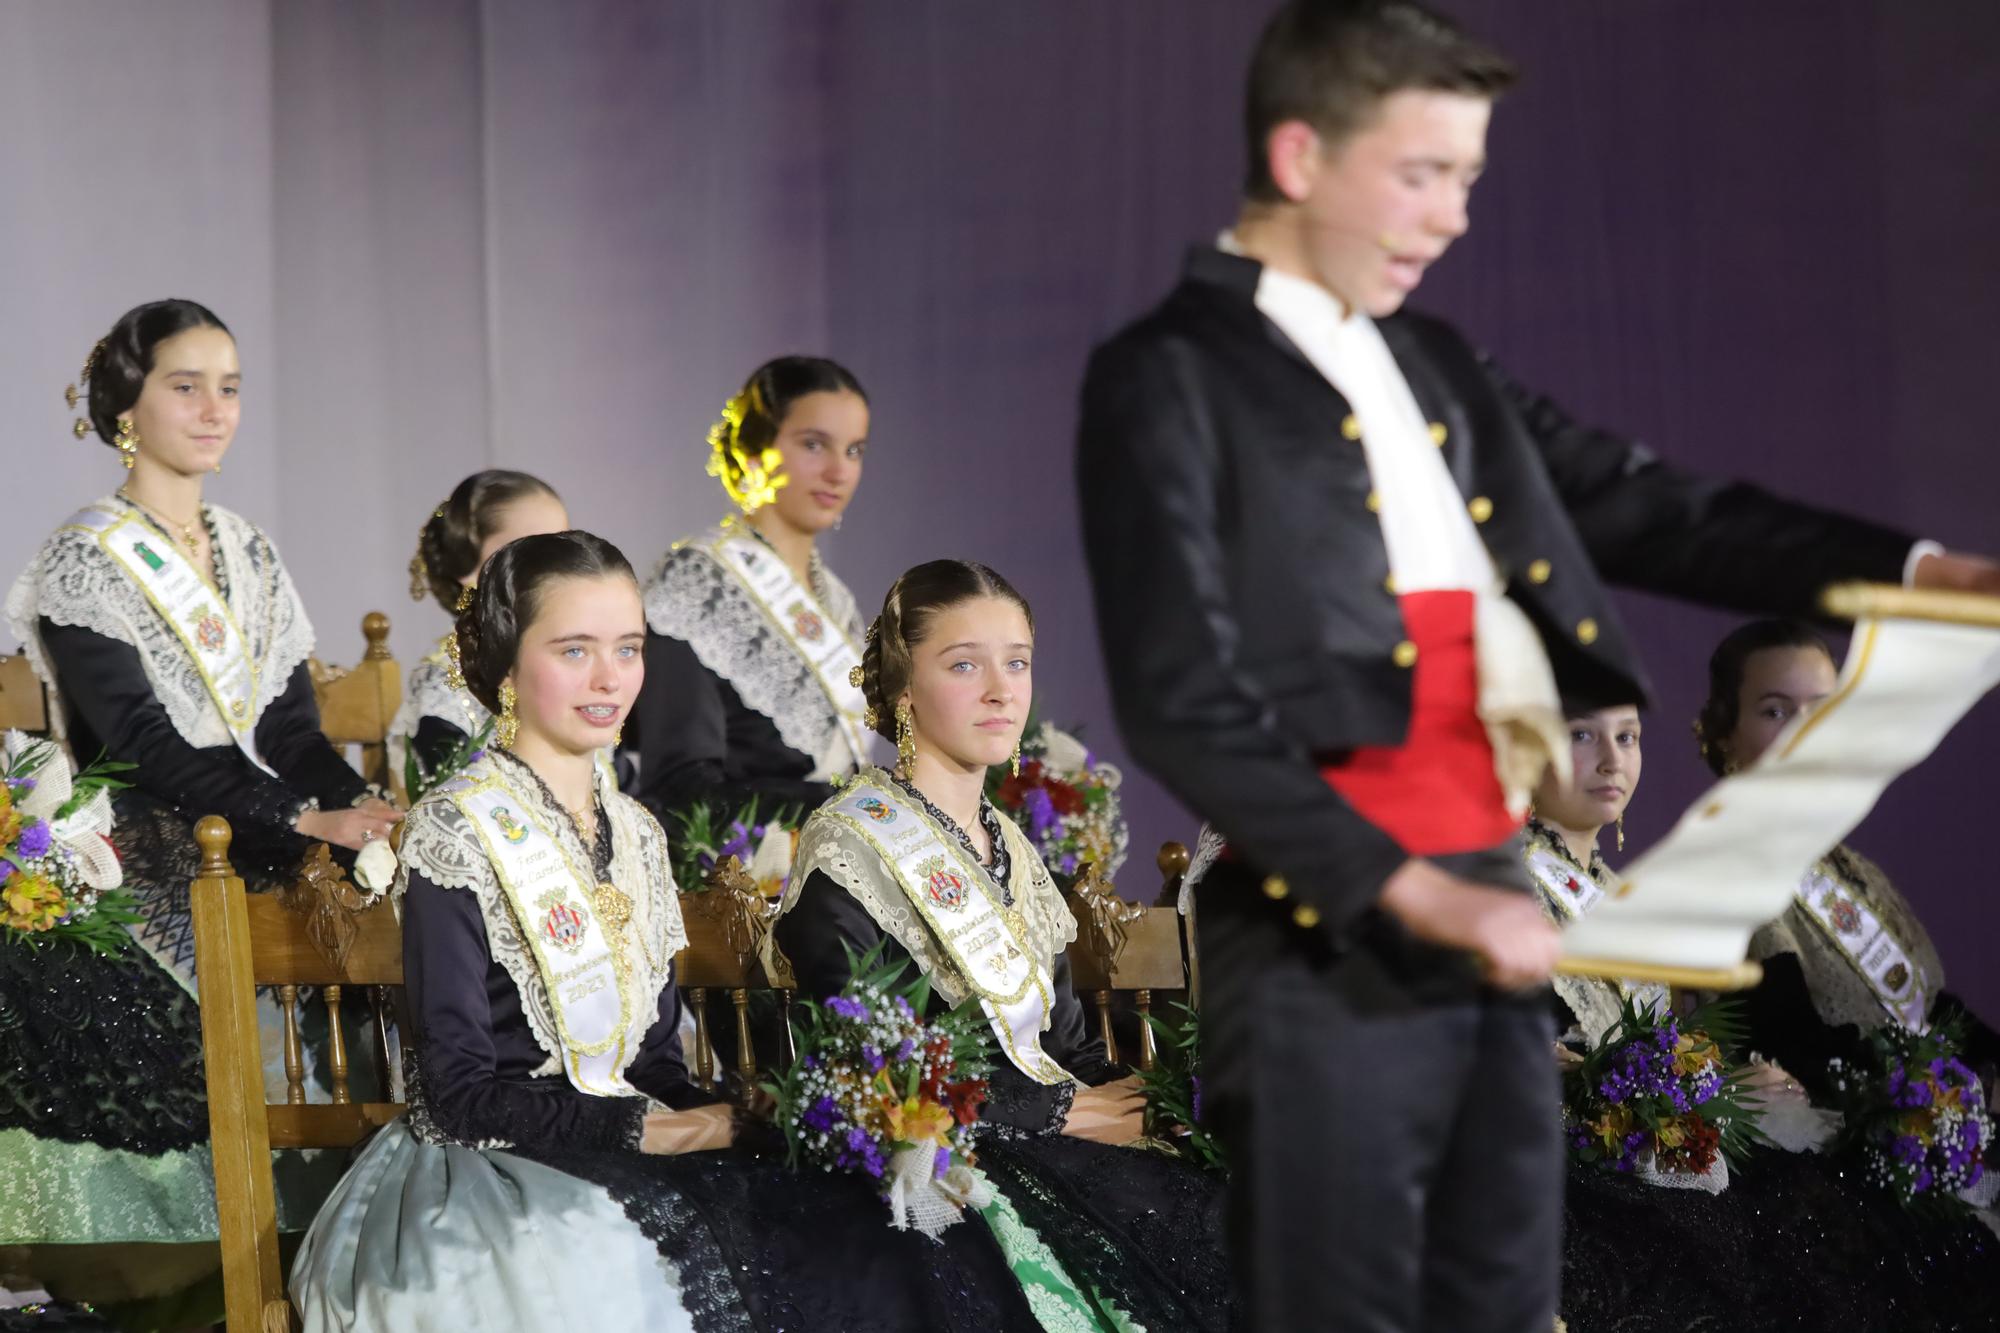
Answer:
POLYGON ((692 1333, 674 1267, 602 1189, 496 1149, 362 1149, 292 1263, 306 1333, 692 1333))

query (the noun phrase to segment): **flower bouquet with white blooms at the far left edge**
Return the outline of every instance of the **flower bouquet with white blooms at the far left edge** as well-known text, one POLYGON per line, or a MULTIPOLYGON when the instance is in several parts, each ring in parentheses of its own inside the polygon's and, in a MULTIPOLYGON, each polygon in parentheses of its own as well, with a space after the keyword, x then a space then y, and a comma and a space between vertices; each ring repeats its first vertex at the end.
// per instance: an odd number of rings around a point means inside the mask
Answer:
POLYGON ((98 761, 70 773, 68 757, 48 741, 6 733, 0 779, 0 929, 10 943, 74 939, 116 953, 138 921, 124 873, 106 837, 110 793, 126 787, 132 765, 98 761))

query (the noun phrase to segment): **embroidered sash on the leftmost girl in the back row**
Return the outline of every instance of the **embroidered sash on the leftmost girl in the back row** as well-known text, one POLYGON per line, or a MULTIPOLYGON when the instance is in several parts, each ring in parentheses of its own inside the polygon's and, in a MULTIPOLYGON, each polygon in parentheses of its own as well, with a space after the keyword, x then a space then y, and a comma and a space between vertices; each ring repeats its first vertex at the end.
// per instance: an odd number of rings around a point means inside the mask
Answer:
POLYGON ((94 532, 112 562, 140 586, 194 658, 236 749, 258 769, 278 777, 256 749, 256 662, 250 660, 250 640, 222 594, 194 570, 180 546, 162 538, 134 510, 118 514, 86 508, 68 526, 94 532))

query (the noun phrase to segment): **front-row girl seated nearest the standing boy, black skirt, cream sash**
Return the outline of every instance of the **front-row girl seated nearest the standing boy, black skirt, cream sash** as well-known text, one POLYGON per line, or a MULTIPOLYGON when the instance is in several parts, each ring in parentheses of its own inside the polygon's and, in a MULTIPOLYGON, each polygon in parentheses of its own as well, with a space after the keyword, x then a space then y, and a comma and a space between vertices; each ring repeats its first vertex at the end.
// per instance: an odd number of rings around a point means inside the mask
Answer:
POLYGON ((1228 1327, 1220 1191, 1122 1147, 1140 1137, 1140 1101, 1070 987, 1076 921, 982 795, 988 771, 1018 759, 1034 697, 1028 602, 984 564, 918 564, 854 679, 896 763, 862 769, 800 829, 776 925, 800 991, 838 993, 852 961, 882 949, 930 979, 934 1005, 986 1013, 1000 1059, 978 1151, 1006 1213, 984 1219, 1044 1327, 1228 1327), (1176 1255, 1172 1277, 1146 1255, 1176 1255))

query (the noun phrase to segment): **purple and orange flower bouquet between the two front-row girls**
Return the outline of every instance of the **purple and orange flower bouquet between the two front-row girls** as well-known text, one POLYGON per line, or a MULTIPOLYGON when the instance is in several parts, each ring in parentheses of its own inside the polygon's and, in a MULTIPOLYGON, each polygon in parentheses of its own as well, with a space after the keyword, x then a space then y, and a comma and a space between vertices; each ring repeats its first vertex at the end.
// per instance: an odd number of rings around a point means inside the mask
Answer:
POLYGON ((804 1005, 798 1061, 766 1091, 794 1169, 866 1175, 890 1225, 936 1237, 966 1205, 992 1203, 972 1169, 990 1027, 976 1001, 926 1023, 930 979, 898 985, 904 967, 872 949, 840 995, 804 1005))

